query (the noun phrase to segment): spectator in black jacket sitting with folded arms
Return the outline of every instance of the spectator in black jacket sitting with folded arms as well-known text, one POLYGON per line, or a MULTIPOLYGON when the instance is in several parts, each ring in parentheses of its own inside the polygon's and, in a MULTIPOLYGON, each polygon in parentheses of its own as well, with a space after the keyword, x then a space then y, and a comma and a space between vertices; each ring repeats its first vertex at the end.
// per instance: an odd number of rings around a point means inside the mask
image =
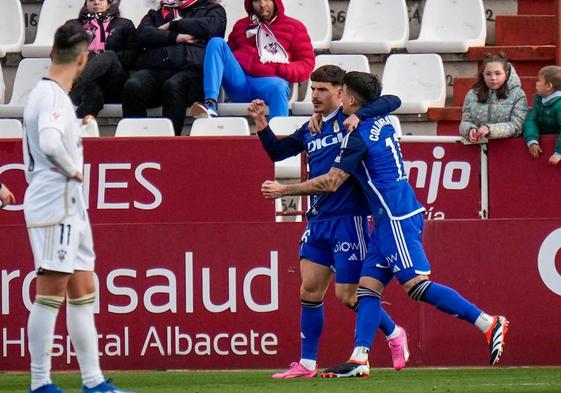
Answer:
POLYGON ((163 106, 163 116, 180 135, 188 106, 203 98, 203 59, 212 37, 224 37, 226 11, 215 0, 160 0, 142 18, 138 71, 125 83, 123 116, 146 117, 163 106))

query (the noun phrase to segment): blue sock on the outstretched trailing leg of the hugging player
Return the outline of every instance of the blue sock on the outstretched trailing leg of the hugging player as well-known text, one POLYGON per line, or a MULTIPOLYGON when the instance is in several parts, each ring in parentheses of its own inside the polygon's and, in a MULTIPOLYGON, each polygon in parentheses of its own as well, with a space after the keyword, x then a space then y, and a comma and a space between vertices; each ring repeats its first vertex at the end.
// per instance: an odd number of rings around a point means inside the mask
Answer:
POLYGON ((417 283, 409 291, 413 300, 432 304, 440 311, 454 315, 470 323, 475 323, 482 311, 468 302, 458 292, 445 285, 425 280, 417 283))

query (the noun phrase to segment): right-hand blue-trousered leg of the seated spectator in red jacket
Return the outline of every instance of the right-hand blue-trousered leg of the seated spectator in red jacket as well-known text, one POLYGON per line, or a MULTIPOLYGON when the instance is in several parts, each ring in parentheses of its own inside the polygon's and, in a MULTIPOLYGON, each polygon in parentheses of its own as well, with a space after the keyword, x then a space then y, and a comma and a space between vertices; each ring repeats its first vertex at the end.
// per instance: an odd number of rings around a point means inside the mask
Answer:
POLYGON ((261 98, 269 106, 269 120, 276 116, 288 116, 288 82, 278 77, 249 78, 251 95, 261 98))

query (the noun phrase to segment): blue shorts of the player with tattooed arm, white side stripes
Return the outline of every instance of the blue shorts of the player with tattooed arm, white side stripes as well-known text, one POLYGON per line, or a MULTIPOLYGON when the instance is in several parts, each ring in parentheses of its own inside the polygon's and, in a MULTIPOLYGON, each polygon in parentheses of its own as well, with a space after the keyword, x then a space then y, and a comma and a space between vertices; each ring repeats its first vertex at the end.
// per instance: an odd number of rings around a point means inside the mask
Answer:
POLYGON ((386 286, 395 276, 404 284, 420 274, 430 274, 430 263, 423 248, 423 214, 404 220, 377 217, 368 243, 362 276, 372 277, 386 286))

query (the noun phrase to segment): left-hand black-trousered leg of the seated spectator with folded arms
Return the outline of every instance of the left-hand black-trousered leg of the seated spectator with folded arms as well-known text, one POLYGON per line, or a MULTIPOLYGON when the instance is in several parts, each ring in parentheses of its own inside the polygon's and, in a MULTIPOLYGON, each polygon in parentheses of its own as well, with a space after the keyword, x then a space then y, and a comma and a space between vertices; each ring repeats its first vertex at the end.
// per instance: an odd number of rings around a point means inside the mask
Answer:
POLYGON ((159 105, 160 92, 168 71, 140 70, 123 87, 123 117, 146 117, 146 109, 159 105))

